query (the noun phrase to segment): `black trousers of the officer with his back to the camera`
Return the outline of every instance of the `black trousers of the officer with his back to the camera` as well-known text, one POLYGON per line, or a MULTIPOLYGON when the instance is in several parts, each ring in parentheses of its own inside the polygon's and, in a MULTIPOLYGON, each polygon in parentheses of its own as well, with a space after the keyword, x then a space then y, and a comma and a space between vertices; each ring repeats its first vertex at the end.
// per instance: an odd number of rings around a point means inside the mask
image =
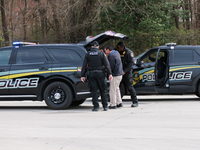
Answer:
POLYGON ((92 93, 92 103, 94 107, 99 108, 98 93, 97 93, 98 89, 101 94, 102 105, 104 108, 107 107, 108 106, 107 84, 106 84, 104 72, 90 71, 88 85, 92 93))

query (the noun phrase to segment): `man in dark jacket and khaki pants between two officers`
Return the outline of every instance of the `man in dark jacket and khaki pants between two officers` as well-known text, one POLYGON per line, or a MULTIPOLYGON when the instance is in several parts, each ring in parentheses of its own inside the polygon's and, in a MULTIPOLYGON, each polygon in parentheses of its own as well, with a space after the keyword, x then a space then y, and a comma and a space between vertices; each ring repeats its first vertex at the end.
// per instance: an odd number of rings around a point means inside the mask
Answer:
POLYGON ((107 45, 105 48, 105 53, 108 55, 108 60, 110 62, 110 68, 112 71, 113 79, 110 81, 110 106, 109 109, 116 109, 117 107, 123 107, 122 98, 119 89, 119 84, 122 80, 123 68, 121 57, 118 51, 113 50, 111 45, 107 45))

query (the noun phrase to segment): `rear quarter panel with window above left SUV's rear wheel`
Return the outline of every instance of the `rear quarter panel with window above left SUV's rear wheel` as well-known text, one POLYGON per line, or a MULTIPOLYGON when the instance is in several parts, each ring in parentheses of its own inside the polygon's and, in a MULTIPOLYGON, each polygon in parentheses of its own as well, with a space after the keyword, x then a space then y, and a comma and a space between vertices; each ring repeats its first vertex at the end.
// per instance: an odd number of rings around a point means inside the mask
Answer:
POLYGON ((81 67, 86 54, 85 50, 78 46, 48 47, 47 49, 53 57, 52 75, 70 78, 70 83, 73 81, 76 84, 75 96, 77 98, 90 94, 89 87, 81 81, 81 67))

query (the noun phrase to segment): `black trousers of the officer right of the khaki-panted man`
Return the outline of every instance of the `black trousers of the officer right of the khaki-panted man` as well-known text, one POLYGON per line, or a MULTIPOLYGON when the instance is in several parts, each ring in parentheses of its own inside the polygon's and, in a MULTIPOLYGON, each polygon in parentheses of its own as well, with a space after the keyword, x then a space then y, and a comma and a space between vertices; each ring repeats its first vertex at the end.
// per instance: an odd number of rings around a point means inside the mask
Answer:
POLYGON ((124 86, 127 87, 129 93, 131 94, 132 102, 133 103, 138 103, 136 92, 135 92, 135 89, 133 87, 132 71, 129 71, 125 75, 123 75, 122 82, 123 82, 124 86))

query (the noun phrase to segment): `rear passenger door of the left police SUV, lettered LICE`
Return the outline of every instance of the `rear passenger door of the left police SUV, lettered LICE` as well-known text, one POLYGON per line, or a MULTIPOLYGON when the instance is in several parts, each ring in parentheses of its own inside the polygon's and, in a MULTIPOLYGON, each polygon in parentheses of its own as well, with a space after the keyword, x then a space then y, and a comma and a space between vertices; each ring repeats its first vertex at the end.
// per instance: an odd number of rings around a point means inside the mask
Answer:
POLYGON ((15 48, 15 62, 10 68, 10 94, 35 97, 45 78, 51 75, 52 61, 41 47, 15 48))

